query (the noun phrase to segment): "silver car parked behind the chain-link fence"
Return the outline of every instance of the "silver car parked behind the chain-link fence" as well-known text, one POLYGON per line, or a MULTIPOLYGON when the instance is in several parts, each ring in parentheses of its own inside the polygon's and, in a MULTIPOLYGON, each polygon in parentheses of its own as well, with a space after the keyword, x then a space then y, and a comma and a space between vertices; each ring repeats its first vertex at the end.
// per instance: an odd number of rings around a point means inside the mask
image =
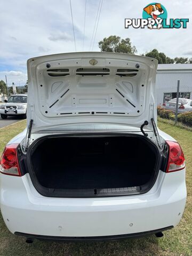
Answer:
MULTIPOLYGON (((163 107, 165 109, 169 109, 175 112, 176 102, 177 102, 177 98, 171 99, 170 101, 163 103, 163 107)), ((185 113, 187 111, 192 111, 192 100, 179 98, 178 113, 185 113)))

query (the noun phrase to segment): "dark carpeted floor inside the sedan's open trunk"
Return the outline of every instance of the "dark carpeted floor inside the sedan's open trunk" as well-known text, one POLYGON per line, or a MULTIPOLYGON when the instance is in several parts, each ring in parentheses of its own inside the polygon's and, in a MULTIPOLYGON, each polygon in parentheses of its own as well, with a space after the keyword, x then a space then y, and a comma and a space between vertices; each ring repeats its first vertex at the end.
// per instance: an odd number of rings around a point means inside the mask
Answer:
POLYGON ((68 161, 44 166, 39 180, 44 187, 55 189, 123 188, 147 183, 151 174, 146 172, 143 161, 131 161, 112 156, 70 157, 68 161))

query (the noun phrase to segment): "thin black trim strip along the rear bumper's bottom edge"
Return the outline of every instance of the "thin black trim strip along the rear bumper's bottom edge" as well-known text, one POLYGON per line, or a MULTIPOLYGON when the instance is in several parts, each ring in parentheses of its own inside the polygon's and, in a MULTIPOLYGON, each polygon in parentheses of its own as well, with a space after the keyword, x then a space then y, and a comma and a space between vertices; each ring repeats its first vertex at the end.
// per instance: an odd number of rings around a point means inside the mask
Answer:
POLYGON ((66 237, 66 236, 41 236, 41 235, 34 235, 34 234, 26 234, 15 232, 15 235, 18 236, 25 236, 26 238, 44 240, 44 241, 53 241, 53 242, 102 242, 102 241, 113 241, 113 240, 120 240, 120 239, 128 239, 128 238, 141 238, 153 234, 157 234, 159 232, 168 230, 173 228, 173 226, 160 228, 156 230, 150 230, 140 233, 133 233, 133 234, 125 234, 125 235, 117 235, 117 236, 80 236, 80 237, 66 237))

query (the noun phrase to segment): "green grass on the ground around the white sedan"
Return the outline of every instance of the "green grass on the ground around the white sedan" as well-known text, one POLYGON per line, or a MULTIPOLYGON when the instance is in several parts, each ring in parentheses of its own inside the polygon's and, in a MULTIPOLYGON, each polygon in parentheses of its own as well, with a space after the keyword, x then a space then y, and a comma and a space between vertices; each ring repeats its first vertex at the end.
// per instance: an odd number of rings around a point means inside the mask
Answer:
MULTIPOLYGON (((25 128, 22 121, 0 130, 0 151, 7 141, 25 128)), ((164 232, 163 238, 150 236, 140 239, 127 239, 119 242, 98 243, 52 243, 35 241, 26 244, 25 239, 11 234, 0 218, 0 255, 13 256, 154 256, 154 255, 192 255, 192 133, 180 127, 158 122, 158 127, 177 139, 187 161, 188 198, 185 213, 178 227, 164 232)), ((166 218, 166 215, 165 215, 166 218)))

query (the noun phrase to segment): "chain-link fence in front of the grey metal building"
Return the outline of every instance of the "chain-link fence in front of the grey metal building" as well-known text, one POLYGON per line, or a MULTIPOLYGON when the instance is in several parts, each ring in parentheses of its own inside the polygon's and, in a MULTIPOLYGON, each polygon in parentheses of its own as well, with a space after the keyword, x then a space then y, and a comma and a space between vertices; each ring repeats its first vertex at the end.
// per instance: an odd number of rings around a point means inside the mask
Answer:
POLYGON ((180 81, 167 87, 157 85, 156 93, 158 116, 192 129, 192 81, 191 86, 180 86, 180 81))

